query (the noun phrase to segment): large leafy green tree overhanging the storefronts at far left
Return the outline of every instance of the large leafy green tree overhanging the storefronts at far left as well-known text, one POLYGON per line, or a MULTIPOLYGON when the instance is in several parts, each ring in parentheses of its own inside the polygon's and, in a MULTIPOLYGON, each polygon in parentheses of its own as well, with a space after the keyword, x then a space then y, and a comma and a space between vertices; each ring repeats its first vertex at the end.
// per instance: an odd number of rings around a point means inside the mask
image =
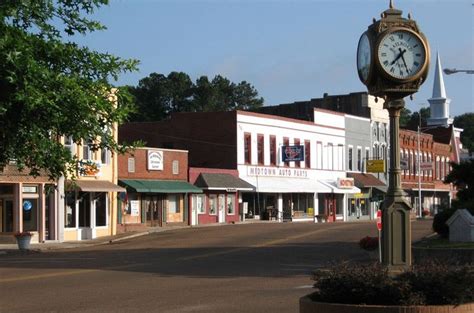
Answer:
POLYGON ((93 149, 120 147, 107 128, 132 110, 126 92, 110 101, 120 73, 137 61, 72 41, 105 29, 87 18, 107 0, 2 0, 0 3, 0 169, 14 160, 31 175, 72 174, 77 162, 61 136, 101 138, 93 149))

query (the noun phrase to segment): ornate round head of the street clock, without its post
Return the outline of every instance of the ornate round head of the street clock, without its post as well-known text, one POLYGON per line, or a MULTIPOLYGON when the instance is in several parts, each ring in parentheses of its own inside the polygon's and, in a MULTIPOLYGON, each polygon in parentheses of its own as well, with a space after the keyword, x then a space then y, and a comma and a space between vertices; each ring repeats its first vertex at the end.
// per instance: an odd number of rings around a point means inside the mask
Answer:
POLYGON ((401 99, 417 92, 428 75, 430 49, 417 23, 393 7, 361 35, 357 72, 369 94, 401 99))

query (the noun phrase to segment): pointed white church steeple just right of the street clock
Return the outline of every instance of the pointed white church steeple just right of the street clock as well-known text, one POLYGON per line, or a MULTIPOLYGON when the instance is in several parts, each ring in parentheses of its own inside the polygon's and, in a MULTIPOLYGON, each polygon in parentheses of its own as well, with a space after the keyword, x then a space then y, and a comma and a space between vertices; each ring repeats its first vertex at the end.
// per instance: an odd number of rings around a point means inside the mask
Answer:
POLYGON ((436 58, 436 69, 433 83, 433 95, 428 99, 430 103, 430 118, 427 120, 428 126, 449 126, 453 124, 453 119, 449 117, 449 104, 451 99, 446 97, 444 87, 443 68, 439 53, 436 58))

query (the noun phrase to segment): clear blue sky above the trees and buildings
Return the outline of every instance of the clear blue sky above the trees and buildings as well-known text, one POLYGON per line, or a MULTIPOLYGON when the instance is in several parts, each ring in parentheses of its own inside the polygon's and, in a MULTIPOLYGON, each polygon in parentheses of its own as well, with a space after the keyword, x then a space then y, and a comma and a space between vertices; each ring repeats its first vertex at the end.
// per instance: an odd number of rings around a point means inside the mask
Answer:
MULTIPOLYGON (((474 69, 474 0, 394 0, 428 38, 428 78, 406 98, 411 111, 428 106, 435 60, 474 69)), ((193 81, 220 74, 252 84, 265 105, 367 91, 357 75, 360 35, 389 0, 111 0, 93 16, 107 30, 78 38, 94 50, 140 61, 117 85, 136 86, 156 72, 193 81)), ((444 75, 450 115, 474 112, 474 75, 444 75)))

